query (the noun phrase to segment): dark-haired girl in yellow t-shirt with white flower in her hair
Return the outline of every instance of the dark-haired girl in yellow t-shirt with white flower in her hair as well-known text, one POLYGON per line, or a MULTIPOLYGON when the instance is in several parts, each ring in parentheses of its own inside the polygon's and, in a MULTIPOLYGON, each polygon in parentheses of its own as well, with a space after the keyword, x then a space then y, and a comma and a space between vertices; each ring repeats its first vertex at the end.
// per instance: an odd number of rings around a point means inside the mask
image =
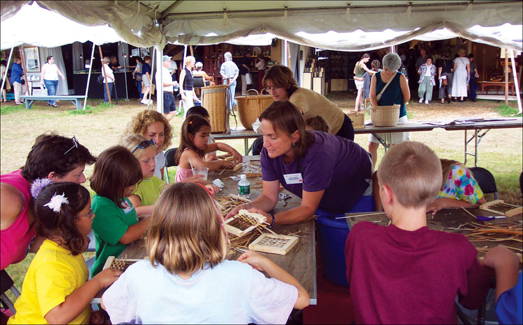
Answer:
POLYGON ((33 192, 37 232, 45 241, 27 270, 17 313, 8 324, 101 324, 103 315, 91 314, 89 303, 121 271, 105 269, 88 280, 82 252, 94 217, 89 191, 73 182, 46 179, 41 184, 50 184, 33 192))

